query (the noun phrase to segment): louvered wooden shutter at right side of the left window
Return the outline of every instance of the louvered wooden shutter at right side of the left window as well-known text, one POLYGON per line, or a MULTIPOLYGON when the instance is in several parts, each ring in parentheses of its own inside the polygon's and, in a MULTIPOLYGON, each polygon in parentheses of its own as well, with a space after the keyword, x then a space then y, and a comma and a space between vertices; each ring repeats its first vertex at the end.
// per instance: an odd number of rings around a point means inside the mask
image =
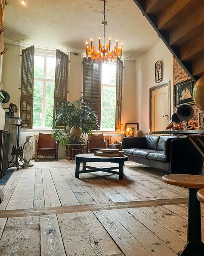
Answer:
MULTIPOLYGON (((53 113, 54 117, 56 117, 59 114, 63 102, 67 101, 67 81, 68 81, 68 55, 57 49, 54 113, 53 113)), ((64 127, 65 125, 58 123, 58 126, 64 127)))

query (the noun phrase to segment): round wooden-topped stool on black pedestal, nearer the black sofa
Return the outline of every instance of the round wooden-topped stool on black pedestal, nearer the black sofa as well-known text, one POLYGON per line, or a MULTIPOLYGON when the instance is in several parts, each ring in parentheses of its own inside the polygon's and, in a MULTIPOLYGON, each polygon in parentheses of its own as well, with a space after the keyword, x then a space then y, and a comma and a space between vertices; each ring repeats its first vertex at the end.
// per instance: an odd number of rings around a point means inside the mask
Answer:
POLYGON ((196 198, 199 189, 204 188, 204 176, 189 174, 170 174, 162 181, 174 186, 189 189, 189 212, 187 243, 178 256, 204 256, 204 243, 201 237, 201 205, 196 198))

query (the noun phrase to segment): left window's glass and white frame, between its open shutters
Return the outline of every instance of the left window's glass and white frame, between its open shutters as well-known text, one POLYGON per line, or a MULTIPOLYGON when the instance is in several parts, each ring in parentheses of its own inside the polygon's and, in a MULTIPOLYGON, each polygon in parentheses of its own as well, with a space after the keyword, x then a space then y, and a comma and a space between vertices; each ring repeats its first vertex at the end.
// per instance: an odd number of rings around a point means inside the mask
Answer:
POLYGON ((52 124, 56 57, 34 55, 33 128, 49 128, 52 124))

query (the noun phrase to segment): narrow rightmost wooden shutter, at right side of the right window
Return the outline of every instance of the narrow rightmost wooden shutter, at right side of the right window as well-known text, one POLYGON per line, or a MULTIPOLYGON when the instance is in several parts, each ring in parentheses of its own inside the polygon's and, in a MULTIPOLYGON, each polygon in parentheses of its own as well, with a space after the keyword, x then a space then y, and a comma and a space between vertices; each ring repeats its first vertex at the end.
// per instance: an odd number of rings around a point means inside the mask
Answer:
POLYGON ((117 57, 115 130, 121 131, 123 61, 117 57))

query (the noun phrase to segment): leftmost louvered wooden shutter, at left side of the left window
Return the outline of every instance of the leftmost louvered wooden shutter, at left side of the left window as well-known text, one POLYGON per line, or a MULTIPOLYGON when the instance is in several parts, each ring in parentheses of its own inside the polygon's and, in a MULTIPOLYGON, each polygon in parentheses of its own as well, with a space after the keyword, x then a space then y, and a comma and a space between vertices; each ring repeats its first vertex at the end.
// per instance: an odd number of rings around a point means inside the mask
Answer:
POLYGON ((34 45, 22 50, 20 118, 24 128, 33 126, 33 83, 34 45))

